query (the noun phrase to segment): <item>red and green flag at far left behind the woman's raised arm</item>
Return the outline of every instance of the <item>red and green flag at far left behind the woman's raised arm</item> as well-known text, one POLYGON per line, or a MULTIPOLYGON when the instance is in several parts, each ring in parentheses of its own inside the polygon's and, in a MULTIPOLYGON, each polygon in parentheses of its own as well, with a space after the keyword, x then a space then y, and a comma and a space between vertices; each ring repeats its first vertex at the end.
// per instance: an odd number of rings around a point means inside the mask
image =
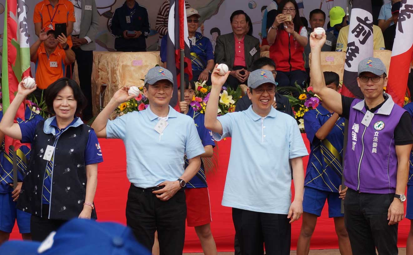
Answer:
MULTIPOLYGON (((17 92, 17 87, 21 79, 24 76, 30 76, 27 11, 25 0, 6 0, 2 55, 3 113, 7 111, 10 102, 14 99, 14 94, 17 92)), ((16 118, 25 119, 24 103, 19 107, 16 118)), ((16 119, 14 121, 17 123, 16 119)), ((21 145, 20 141, 5 137, 4 153, 12 154, 13 151, 18 151, 21 145), (10 148, 10 146, 12 147, 10 148)), ((17 152, 17 155, 19 155, 19 152, 17 152)), ((8 157, 13 158, 13 155, 8 155, 8 157)), ((14 157, 16 157, 16 155, 14 155, 14 157)))

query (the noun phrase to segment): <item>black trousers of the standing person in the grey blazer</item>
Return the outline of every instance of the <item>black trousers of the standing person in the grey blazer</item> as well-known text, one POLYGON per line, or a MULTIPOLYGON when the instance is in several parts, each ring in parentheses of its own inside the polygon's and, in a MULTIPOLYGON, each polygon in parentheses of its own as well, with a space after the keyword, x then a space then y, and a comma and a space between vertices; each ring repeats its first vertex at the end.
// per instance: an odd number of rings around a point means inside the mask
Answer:
MULTIPOLYGON (((80 88, 88 100, 86 108, 83 109, 83 120, 93 118, 92 112, 92 70, 93 70, 93 50, 82 50, 78 47, 73 47, 72 50, 76 54, 76 62, 78 63, 78 75, 80 88)), ((66 67, 66 77, 72 78, 75 63, 66 67)))

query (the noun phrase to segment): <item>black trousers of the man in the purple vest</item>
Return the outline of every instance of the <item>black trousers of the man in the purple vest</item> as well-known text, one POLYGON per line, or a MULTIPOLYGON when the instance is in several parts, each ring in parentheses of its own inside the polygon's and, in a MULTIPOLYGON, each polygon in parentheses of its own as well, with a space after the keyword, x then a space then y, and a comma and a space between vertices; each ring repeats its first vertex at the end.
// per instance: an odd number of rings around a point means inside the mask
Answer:
POLYGON ((389 226, 387 211, 393 194, 359 193, 347 190, 344 199, 344 224, 354 255, 397 255, 398 224, 389 226))

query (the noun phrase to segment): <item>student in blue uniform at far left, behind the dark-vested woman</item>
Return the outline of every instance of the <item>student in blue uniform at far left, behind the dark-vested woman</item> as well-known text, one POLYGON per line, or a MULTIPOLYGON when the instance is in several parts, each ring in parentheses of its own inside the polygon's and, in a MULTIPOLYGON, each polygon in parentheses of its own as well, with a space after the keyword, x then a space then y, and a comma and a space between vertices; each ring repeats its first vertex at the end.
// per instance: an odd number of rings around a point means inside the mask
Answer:
MULTIPOLYGON (((0 120, 3 111, 0 111, 0 120)), ((18 123, 40 121, 43 118, 31 111, 26 106, 24 120, 17 118, 18 123)), ((16 209, 17 198, 19 198, 21 184, 26 173, 28 159, 30 158, 30 145, 22 144, 17 151, 17 188, 13 189, 13 151, 9 149, 6 153, 4 134, 0 132, 0 245, 9 240, 14 223, 17 220, 19 232, 23 240, 30 240, 30 213, 16 209)))

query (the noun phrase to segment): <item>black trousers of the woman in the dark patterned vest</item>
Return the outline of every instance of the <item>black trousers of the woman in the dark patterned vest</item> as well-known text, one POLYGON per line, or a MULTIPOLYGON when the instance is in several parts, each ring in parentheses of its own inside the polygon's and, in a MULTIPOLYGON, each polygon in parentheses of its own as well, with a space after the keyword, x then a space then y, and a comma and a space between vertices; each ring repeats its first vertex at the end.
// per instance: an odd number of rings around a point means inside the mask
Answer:
POLYGON ((31 239, 33 241, 43 241, 52 232, 59 229, 66 220, 52 220, 47 219, 49 215, 49 205, 42 206, 42 217, 31 215, 30 218, 30 231, 31 239))

